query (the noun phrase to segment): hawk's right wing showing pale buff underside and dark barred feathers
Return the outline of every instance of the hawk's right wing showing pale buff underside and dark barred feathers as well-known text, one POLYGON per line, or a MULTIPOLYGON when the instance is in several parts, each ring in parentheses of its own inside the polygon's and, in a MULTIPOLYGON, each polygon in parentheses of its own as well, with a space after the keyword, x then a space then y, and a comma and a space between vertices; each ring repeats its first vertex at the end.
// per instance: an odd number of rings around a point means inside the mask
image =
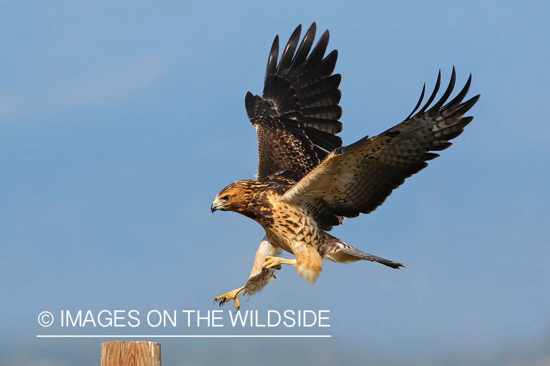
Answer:
POLYGON ((462 102, 470 87, 466 85, 447 105, 453 91, 455 71, 443 97, 432 108, 439 89, 441 71, 428 102, 416 115, 424 95, 411 115, 399 125, 354 144, 334 150, 328 157, 284 194, 283 199, 305 204, 317 222, 326 229, 338 224, 336 216, 356 217, 381 205, 392 190, 426 167, 427 160, 439 156, 430 153, 447 149, 449 140, 459 136, 474 117, 464 114, 477 102, 479 95, 462 102))

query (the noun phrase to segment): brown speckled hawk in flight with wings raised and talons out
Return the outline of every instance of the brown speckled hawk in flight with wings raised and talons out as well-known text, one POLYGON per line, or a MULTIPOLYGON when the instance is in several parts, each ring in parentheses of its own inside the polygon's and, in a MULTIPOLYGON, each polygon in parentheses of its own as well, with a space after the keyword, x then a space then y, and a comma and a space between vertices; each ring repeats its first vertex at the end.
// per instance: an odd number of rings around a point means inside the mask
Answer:
POLYGON ((337 50, 324 56, 328 30, 313 46, 315 22, 301 43, 301 25, 290 36, 281 59, 275 37, 267 61, 263 94, 245 97, 246 114, 256 128, 258 171, 256 179, 229 184, 212 203, 215 212, 234 211, 258 222, 266 232, 244 286, 216 297, 222 306, 239 295, 260 291, 281 264, 290 264, 304 279, 314 283, 323 258, 334 262, 367 260, 388 267, 404 264, 388 261, 356 249, 327 232, 345 217, 370 213, 382 205, 392 190, 439 156, 430 151, 447 149, 473 117, 464 114, 479 95, 463 102, 471 75, 464 88, 450 100, 455 70, 443 96, 431 107, 436 87, 416 113, 397 126, 374 137, 364 137, 343 146, 336 136, 342 131, 341 76, 332 74, 337 50), (311 52, 310 52, 311 51, 311 52), (444 105, 445 104, 445 105, 444 105), (281 257, 282 250, 294 256, 281 257))

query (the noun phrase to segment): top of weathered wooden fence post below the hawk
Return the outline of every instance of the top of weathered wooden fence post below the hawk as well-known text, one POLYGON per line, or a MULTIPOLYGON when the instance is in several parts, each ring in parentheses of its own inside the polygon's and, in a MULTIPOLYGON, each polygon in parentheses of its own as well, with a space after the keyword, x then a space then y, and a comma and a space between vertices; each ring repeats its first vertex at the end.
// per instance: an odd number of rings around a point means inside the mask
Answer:
POLYGON ((148 341, 102 342, 101 366, 161 366, 161 344, 148 341))

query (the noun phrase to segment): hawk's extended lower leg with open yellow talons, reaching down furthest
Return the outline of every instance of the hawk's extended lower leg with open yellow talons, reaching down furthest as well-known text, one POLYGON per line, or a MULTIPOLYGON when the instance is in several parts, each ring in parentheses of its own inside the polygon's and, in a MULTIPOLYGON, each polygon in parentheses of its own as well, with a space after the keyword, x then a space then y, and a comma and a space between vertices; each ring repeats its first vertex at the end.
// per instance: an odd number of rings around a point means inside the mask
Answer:
POLYGON ((222 306, 224 303, 229 300, 234 301, 235 308, 239 309, 240 300, 239 295, 247 294, 248 296, 254 295, 256 292, 261 291, 265 285, 268 284, 270 279, 274 277, 276 269, 279 268, 263 268, 262 265, 265 262, 265 258, 268 256, 281 255, 281 249, 274 247, 267 237, 263 238, 256 256, 254 257, 254 266, 250 272, 250 277, 246 284, 238 289, 227 292, 221 296, 214 299, 215 302, 219 302, 219 305, 222 306))

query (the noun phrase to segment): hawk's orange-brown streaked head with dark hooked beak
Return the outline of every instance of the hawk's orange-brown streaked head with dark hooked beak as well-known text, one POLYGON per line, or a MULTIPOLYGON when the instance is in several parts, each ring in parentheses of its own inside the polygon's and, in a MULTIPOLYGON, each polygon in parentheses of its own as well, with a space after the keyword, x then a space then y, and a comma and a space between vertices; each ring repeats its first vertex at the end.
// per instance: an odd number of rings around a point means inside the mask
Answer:
POLYGON ((244 211, 254 203, 260 185, 265 186, 265 183, 250 180, 233 182, 219 191, 210 210, 212 213, 220 210, 244 214, 244 211))

